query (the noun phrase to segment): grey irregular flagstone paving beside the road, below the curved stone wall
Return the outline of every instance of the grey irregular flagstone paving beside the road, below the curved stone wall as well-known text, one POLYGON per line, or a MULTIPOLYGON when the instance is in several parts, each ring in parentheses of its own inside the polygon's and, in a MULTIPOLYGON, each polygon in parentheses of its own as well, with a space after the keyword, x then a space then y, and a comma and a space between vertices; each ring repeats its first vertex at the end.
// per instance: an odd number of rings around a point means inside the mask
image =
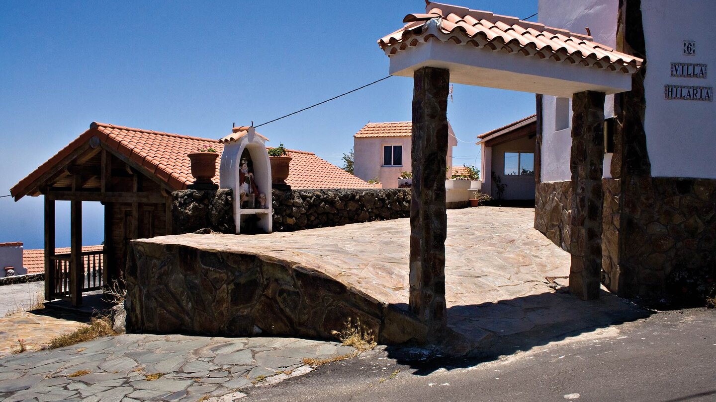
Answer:
POLYGON ((296 338, 118 335, 0 358, 0 401, 236 398, 242 389, 308 373, 304 358, 353 351, 340 343, 296 338))

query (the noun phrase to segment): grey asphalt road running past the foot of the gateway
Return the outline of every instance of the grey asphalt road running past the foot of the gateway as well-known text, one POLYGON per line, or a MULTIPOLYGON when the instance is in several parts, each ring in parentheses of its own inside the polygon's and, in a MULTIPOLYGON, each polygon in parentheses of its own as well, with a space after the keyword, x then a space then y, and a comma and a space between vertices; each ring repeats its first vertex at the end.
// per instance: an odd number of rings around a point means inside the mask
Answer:
POLYGON ((242 401, 716 401, 716 310, 655 313, 480 363, 379 349, 242 401), (413 355, 415 358, 415 354, 413 355))

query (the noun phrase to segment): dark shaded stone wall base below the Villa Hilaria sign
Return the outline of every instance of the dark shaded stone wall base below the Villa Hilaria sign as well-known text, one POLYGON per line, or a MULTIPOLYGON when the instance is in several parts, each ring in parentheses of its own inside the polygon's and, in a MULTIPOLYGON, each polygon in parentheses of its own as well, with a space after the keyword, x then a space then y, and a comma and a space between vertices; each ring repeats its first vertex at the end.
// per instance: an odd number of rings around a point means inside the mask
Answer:
POLYGON ((619 293, 703 304, 716 295, 716 180, 633 178, 621 215, 619 293))

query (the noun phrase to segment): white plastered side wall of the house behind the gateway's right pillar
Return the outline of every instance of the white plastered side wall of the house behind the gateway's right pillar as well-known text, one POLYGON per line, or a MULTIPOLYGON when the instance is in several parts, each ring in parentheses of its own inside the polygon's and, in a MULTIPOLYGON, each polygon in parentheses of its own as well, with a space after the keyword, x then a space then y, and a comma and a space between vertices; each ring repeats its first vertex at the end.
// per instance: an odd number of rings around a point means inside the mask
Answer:
MULTIPOLYGON (((585 33, 589 26, 594 40, 606 46, 616 46, 616 21, 618 0, 539 0, 539 21, 547 26, 585 33)), ((557 98, 542 98, 542 182, 571 180, 569 170, 571 153, 571 102, 569 102, 569 127, 556 127, 557 98)), ((614 116, 614 95, 604 99, 604 117, 614 116)), ((609 156, 607 160, 611 160, 609 156)), ((605 163, 605 177, 611 177, 605 163)))

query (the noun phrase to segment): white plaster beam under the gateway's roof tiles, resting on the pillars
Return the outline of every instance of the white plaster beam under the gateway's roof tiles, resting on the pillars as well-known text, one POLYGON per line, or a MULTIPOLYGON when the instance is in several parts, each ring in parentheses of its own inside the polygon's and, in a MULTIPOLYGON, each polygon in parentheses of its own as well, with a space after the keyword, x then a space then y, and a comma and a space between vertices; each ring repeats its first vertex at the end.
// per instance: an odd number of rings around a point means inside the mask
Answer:
POLYGON ((632 89, 631 74, 480 49, 435 39, 390 56, 390 74, 412 77, 422 67, 450 70, 450 82, 571 98, 583 91, 632 89))

